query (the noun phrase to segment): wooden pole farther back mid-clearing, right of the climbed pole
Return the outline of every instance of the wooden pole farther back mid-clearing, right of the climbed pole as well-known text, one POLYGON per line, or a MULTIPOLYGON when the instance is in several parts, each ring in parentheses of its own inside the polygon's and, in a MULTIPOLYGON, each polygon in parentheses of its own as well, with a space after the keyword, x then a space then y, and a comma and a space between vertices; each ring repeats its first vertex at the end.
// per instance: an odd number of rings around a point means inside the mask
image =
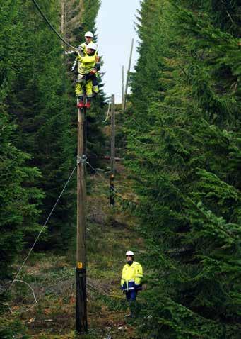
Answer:
POLYGON ((114 121, 114 94, 111 97, 111 139, 110 139, 110 205, 114 206, 114 139, 115 139, 115 121, 114 121))

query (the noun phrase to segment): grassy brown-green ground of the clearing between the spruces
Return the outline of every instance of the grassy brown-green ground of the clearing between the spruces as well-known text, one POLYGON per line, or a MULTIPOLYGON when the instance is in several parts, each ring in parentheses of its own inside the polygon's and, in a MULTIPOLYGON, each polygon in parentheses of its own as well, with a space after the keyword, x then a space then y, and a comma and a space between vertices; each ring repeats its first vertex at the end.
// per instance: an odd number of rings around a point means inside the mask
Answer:
MULTIPOLYGON (((119 291, 119 280, 125 251, 141 250, 143 240, 136 238, 135 219, 119 204, 115 208, 108 205, 107 182, 98 175, 92 175, 90 180, 93 188, 88 195, 87 224, 89 333, 81 338, 140 338, 124 318, 127 305, 119 291)), ((119 190, 126 198, 134 199, 126 189, 119 190)), ((74 263, 75 248, 64 255, 31 255, 23 279, 33 287, 37 304, 23 312, 34 304, 34 299, 27 285, 16 282, 13 313, 6 314, 4 325, 11 328, 11 324, 20 321, 18 325, 27 328, 30 338, 76 338, 74 263)))

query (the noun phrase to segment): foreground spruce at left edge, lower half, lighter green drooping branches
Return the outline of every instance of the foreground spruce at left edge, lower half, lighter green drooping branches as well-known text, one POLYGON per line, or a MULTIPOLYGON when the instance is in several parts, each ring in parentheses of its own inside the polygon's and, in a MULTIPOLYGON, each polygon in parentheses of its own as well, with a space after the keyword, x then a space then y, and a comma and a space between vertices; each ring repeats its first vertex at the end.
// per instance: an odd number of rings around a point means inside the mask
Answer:
POLYGON ((39 170, 29 167, 30 156, 11 142, 16 126, 9 122, 3 104, 0 111, 0 277, 4 282, 11 278, 12 264, 24 243, 33 241, 40 230, 37 221, 43 195, 35 186, 39 170))

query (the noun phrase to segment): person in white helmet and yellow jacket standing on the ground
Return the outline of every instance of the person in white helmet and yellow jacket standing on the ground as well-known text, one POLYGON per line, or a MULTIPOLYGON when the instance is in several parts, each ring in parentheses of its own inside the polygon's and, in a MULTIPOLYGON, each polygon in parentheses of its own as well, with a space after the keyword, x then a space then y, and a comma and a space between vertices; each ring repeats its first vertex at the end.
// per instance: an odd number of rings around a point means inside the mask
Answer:
POLYGON ((141 278, 143 271, 141 264, 134 260, 134 252, 127 251, 127 264, 122 269, 121 289, 126 293, 127 301, 130 306, 131 313, 128 316, 135 316, 136 295, 141 291, 141 278))

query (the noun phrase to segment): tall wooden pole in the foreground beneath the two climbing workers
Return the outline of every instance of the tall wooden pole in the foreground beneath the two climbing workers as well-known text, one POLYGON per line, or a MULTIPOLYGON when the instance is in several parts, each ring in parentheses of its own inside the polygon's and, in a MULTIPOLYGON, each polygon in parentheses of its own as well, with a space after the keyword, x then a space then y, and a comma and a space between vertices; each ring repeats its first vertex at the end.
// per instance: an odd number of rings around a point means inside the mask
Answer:
POLYGON ((77 163, 76 331, 86 333, 86 108, 78 109, 77 163))

